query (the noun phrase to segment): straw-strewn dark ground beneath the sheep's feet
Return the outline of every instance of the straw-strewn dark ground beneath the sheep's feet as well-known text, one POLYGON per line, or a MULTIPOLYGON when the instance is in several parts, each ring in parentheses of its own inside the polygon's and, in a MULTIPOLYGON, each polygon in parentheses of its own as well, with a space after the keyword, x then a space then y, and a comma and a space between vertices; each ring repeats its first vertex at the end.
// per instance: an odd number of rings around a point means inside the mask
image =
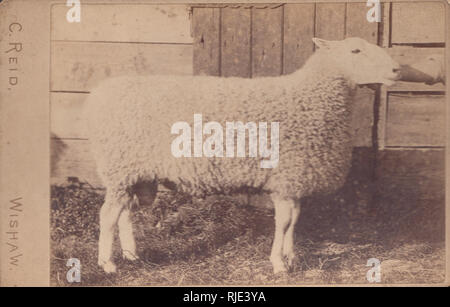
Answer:
POLYGON ((116 242, 118 273, 105 274, 97 266, 104 192, 79 183, 53 186, 51 280, 70 285, 66 262, 78 258, 84 286, 368 284, 367 260, 377 258, 382 283, 444 281, 443 201, 370 204, 340 193, 303 202, 298 257, 288 274, 273 275, 269 261, 273 210, 170 191, 151 207, 133 208, 140 260, 122 260, 116 242))

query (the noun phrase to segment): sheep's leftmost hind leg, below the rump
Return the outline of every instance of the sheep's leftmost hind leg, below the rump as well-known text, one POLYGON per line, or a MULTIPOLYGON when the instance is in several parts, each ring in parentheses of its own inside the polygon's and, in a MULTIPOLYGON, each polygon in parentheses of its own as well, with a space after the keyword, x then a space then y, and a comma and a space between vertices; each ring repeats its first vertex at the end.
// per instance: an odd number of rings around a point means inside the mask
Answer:
POLYGON ((98 264, 106 273, 116 272, 112 262, 114 228, 119 215, 131 200, 126 191, 107 191, 105 203, 100 209, 100 236, 98 240, 98 264))

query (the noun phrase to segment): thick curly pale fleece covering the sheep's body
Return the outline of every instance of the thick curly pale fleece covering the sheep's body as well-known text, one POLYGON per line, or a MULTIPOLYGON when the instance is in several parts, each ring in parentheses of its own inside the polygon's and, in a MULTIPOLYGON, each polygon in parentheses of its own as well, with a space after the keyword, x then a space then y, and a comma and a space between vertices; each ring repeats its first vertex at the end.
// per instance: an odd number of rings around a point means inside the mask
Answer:
POLYGON ((110 192, 156 179, 196 196, 265 190, 299 199, 337 189, 350 167, 355 85, 330 65, 316 52, 302 69, 278 77, 109 79, 87 100, 99 175, 110 192), (194 113, 222 124, 224 143, 226 121, 279 122, 278 166, 262 169, 260 157, 173 157, 171 126, 193 127, 194 113))

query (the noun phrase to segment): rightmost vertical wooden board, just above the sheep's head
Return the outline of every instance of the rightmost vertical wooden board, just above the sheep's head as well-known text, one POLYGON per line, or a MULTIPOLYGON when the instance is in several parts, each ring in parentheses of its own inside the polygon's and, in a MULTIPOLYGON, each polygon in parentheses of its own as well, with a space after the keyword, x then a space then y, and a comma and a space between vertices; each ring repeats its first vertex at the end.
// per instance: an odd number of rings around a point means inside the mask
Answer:
POLYGON ((366 3, 347 3, 345 37, 360 37, 369 43, 377 43, 378 23, 367 21, 368 10, 366 3))

